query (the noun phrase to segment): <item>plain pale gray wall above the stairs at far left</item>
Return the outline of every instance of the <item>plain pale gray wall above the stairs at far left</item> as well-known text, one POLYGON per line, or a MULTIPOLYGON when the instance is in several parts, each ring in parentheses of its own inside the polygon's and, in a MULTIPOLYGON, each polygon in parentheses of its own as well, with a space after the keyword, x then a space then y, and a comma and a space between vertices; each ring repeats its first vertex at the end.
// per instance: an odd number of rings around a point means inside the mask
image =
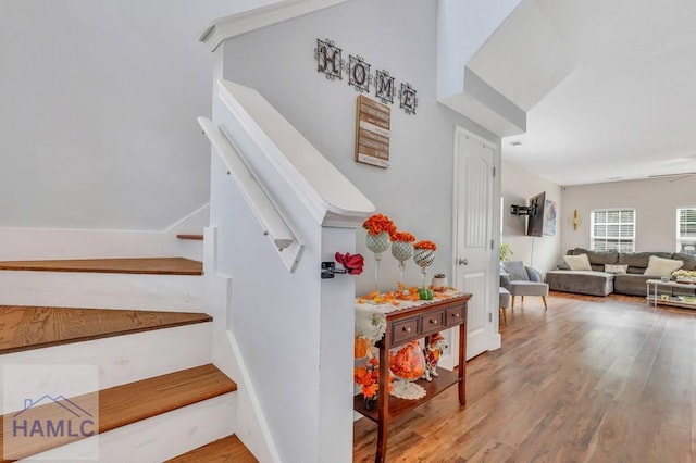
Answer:
POLYGON ((214 17, 272 0, 0 0, 0 226, 160 230, 208 202, 214 17))

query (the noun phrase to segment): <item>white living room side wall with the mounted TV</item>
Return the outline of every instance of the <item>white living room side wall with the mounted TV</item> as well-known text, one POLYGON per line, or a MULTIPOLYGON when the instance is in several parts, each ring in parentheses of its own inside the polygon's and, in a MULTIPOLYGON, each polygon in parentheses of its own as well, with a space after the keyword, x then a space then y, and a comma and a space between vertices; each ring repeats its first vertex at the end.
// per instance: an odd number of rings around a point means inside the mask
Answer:
POLYGON ((561 258, 561 241, 570 225, 560 185, 540 178, 509 162, 502 163, 502 233, 500 242, 510 245, 511 261, 523 261, 543 274, 554 270, 561 258), (527 205, 529 199, 546 191, 546 199, 556 202, 556 234, 543 237, 526 236, 526 216, 512 215, 510 205, 527 205))

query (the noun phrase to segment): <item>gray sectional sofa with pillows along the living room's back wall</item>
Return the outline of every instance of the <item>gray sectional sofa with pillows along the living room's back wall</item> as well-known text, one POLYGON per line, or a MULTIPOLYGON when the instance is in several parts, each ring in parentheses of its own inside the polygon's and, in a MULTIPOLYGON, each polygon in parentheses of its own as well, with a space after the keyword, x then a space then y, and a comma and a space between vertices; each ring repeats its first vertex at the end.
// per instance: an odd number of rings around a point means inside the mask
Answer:
MULTIPOLYGON (((659 275, 646 275, 650 255, 683 261, 683 270, 696 270, 696 256, 672 252, 595 252, 575 248, 568 255, 586 254, 592 271, 572 271, 566 263, 558 270, 546 273, 546 283, 551 291, 575 292, 589 296, 607 296, 611 292, 630 296, 646 296, 646 281, 659 279, 659 275), (626 273, 605 272, 605 265, 627 265, 626 273)), ((694 295, 694 290, 684 289, 684 295, 694 295)))

